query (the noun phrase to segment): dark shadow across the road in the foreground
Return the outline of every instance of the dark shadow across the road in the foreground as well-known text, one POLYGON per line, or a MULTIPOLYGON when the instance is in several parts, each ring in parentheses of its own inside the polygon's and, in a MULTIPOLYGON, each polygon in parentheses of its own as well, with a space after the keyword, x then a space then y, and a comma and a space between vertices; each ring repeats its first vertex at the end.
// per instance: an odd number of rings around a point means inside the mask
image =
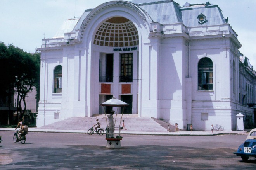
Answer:
MULTIPOLYGON (((55 170, 185 170, 227 169, 239 163, 232 149, 202 149, 141 145, 109 149, 106 146, 68 145, 62 148, 10 149, 12 162, 0 169, 55 170), (219 155, 213 157, 212 155, 219 155)), ((8 155, 7 155, 8 156, 8 155)), ((9 156, 10 157, 10 156, 9 156)), ((242 167, 254 167, 249 160, 242 167)), ((241 169, 241 166, 240 168, 241 169)))

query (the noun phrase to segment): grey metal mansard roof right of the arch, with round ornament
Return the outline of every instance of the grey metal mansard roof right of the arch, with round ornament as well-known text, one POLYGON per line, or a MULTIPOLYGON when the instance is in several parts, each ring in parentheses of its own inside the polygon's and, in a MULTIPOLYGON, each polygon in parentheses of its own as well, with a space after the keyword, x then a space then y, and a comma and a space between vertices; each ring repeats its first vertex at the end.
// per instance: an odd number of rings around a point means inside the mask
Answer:
POLYGON ((183 22, 187 27, 201 26, 198 23, 197 16, 204 14, 206 22, 203 25, 219 25, 225 23, 220 8, 212 4, 195 4, 186 7, 180 5, 173 0, 133 0, 131 3, 137 4, 142 8, 154 22, 160 24, 175 24, 183 22))

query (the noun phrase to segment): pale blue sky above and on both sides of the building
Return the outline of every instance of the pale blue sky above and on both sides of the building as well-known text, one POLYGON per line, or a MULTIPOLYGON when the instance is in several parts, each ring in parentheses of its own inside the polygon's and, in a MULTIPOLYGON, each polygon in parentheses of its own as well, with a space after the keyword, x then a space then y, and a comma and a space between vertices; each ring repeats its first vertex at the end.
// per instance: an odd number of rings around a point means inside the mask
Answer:
MULTIPOLYGON (((0 0, 0 41, 35 52, 42 38, 51 38, 64 20, 109 0, 0 0)), ((174 0, 183 6, 208 0, 174 0)), ((209 0, 222 10, 238 34, 240 52, 256 67, 256 0, 209 0)))

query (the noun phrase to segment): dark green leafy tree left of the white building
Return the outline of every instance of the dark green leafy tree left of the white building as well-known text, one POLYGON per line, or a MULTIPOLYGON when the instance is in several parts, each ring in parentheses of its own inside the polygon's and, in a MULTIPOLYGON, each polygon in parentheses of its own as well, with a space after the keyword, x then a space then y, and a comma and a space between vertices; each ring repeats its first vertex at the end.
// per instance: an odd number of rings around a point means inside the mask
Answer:
MULTIPOLYGON (((27 53, 22 49, 0 42, 0 94, 17 94, 17 113, 26 111, 26 96, 33 87, 39 92, 40 53, 27 53), (22 110, 21 102, 24 103, 22 110)), ((38 97, 38 95, 37 95, 38 97)), ((18 120, 18 117, 17 117, 18 120)))

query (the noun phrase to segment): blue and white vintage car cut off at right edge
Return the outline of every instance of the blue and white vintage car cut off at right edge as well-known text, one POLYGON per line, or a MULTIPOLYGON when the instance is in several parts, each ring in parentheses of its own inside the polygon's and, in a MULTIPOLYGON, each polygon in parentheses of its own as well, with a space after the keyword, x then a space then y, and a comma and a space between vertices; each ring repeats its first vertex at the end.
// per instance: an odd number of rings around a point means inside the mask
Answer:
POLYGON ((244 161, 247 161, 250 156, 256 158, 256 128, 249 132, 244 143, 238 147, 234 154, 241 156, 244 161))

